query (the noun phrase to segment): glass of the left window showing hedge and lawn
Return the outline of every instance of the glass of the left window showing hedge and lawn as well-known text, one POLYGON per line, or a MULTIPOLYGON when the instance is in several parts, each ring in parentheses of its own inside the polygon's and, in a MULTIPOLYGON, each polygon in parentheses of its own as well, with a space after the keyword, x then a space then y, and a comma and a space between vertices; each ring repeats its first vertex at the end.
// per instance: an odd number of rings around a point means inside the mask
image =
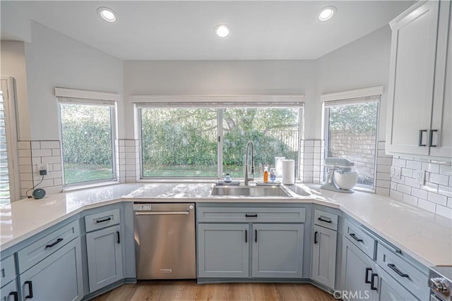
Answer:
POLYGON ((115 179, 114 106, 61 102, 64 185, 115 179))

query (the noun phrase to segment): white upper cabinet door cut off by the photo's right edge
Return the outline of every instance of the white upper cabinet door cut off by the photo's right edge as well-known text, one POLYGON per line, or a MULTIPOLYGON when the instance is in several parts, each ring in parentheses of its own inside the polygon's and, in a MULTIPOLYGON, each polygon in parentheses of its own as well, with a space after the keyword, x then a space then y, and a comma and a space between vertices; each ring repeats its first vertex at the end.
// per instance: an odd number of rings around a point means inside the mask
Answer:
POLYGON ((452 157, 452 23, 451 2, 440 1, 438 47, 432 113, 431 156, 452 157))

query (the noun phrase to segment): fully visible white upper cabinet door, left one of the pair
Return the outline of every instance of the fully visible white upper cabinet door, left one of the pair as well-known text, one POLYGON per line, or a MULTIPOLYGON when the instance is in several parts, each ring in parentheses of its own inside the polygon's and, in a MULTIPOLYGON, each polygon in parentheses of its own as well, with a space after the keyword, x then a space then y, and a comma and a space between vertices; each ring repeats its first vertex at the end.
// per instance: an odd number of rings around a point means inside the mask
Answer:
POLYGON ((388 152, 429 154, 438 15, 439 1, 427 1, 390 23, 388 152))

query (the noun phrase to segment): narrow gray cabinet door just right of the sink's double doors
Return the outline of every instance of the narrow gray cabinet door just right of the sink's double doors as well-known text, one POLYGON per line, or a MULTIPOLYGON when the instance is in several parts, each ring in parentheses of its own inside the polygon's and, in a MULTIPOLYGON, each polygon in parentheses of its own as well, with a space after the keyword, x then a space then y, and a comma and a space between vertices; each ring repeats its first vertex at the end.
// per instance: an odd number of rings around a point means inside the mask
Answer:
POLYGON ((338 233, 314 225, 312 279, 334 290, 338 233))

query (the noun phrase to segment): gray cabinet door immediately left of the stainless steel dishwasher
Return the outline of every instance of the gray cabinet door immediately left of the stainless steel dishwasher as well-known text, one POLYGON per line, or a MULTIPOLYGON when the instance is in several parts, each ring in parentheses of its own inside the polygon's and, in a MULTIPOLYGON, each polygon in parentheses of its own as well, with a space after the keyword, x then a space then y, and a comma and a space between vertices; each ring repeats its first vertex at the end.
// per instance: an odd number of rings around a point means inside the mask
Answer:
POLYGON ((90 293, 123 278, 121 227, 86 234, 90 293))

